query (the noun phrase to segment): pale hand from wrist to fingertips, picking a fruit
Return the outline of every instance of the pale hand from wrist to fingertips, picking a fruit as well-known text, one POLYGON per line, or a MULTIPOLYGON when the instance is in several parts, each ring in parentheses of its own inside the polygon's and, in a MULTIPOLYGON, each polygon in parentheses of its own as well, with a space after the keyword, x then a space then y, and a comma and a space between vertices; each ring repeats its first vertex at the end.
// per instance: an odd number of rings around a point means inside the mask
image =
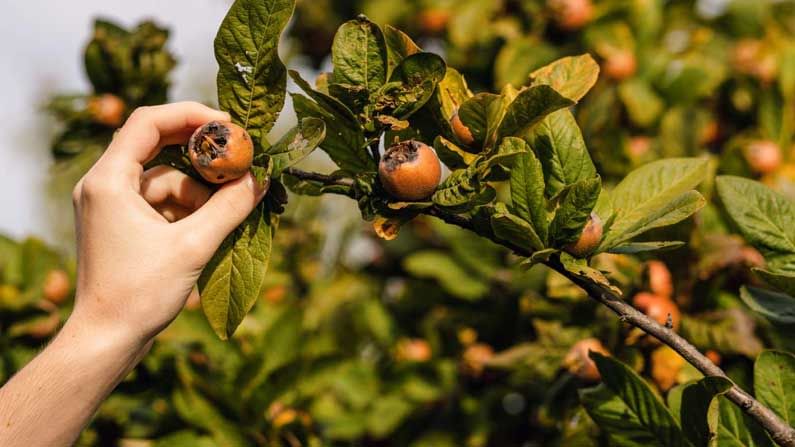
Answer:
POLYGON ((211 120, 229 116, 189 102, 140 108, 78 182, 70 320, 145 344, 177 316, 202 268, 265 195, 267 185, 251 174, 213 193, 170 167, 144 171, 160 149, 211 120))

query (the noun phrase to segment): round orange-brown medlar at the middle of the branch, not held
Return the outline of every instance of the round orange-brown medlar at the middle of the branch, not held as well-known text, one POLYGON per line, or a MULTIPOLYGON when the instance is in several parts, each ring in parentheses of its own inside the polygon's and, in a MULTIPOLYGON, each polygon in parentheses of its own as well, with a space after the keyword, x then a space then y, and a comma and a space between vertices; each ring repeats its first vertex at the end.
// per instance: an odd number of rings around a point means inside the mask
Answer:
POLYGON ((378 177, 384 189, 395 198, 418 201, 436 191, 442 167, 428 145, 408 140, 386 150, 378 166, 378 177))

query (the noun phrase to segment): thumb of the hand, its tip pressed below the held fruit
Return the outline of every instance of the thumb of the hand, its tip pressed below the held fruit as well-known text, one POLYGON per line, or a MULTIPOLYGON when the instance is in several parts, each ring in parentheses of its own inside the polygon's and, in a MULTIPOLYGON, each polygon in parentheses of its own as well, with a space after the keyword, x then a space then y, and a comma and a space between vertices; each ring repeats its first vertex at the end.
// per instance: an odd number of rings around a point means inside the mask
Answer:
MULTIPOLYGON (((202 258, 209 258, 268 192, 270 179, 260 186, 251 173, 225 183, 190 216, 178 221, 180 233, 198 245, 202 258)), ((194 252, 196 247, 193 247, 194 252)))

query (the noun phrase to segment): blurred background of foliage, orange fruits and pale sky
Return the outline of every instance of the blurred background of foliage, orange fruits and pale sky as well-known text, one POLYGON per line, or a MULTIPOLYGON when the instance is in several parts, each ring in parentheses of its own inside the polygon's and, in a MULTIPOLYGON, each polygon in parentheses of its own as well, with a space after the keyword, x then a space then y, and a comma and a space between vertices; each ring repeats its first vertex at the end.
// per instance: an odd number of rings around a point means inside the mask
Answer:
MULTIPOLYGON (((136 106, 215 104, 212 42, 230 4, 83 0, 52 14, 53 2, 28 0, 4 12, 0 154, 13 166, 0 176, 0 383, 71 309, 72 186, 136 106)), ((574 112, 608 185, 697 156, 795 197, 795 2, 299 0, 280 48, 288 67, 309 80, 328 71, 337 27, 358 13, 439 52, 476 92, 591 54, 600 78, 574 112)), ((270 140, 294 120, 288 96, 270 140)), ((320 151, 304 163, 333 170, 320 151)), ((712 185, 702 192, 710 204, 696 218, 650 235, 687 248, 594 263, 748 385, 762 349, 792 350, 793 325, 743 303, 764 259, 712 185)), ((598 380, 583 346, 660 393, 700 377, 488 241, 420 218, 385 242, 350 200, 291 196, 262 299, 234 338, 217 339, 194 293, 79 445, 608 445, 579 402, 598 380)))

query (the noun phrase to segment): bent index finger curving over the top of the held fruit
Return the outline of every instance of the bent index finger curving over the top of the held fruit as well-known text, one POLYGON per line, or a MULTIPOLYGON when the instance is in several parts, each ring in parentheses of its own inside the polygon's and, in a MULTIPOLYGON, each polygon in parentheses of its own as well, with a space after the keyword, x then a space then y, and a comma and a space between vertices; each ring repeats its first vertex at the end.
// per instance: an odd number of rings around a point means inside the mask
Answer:
POLYGON ((143 165, 168 144, 187 142, 193 131, 229 114, 197 102, 178 102, 136 109, 108 147, 109 159, 143 165))

